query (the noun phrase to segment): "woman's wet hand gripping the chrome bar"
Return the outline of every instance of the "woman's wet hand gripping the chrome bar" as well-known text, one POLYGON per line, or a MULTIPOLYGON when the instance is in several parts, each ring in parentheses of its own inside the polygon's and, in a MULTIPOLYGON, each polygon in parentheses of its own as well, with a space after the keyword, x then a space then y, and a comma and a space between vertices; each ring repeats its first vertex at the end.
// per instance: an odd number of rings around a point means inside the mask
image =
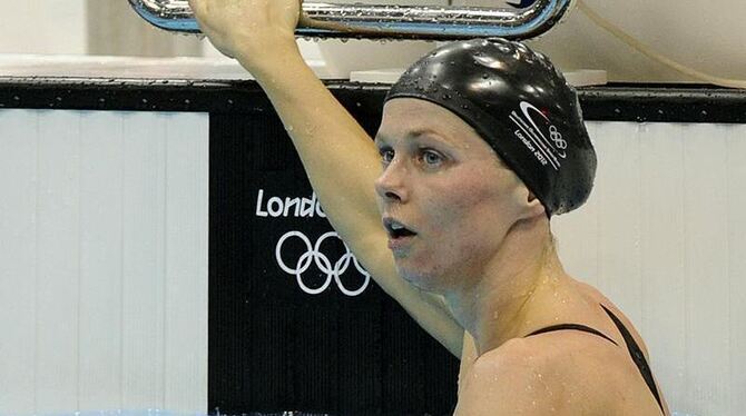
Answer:
MULTIPOLYGON (((302 0, 189 0, 202 31, 222 53, 253 67, 294 48, 302 0)), ((251 68, 249 68, 251 70, 251 68)))

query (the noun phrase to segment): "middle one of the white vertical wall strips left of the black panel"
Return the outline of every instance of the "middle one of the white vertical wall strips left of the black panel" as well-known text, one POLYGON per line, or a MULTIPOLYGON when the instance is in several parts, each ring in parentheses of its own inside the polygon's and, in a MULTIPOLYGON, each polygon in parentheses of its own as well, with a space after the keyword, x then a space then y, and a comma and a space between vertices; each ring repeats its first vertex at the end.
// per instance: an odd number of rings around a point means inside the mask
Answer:
POLYGON ((79 408, 120 408, 124 125, 116 112, 80 118, 79 408))

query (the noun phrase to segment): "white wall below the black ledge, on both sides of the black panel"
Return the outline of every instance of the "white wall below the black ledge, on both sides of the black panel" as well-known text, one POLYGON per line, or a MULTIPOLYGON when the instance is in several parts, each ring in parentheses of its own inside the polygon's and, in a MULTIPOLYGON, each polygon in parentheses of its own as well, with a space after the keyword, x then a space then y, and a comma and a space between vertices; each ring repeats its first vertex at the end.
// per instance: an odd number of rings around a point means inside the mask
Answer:
MULTIPOLYGON (((560 255, 671 409, 746 413, 746 126, 591 122, 560 255)), ((0 414, 207 406, 207 116, 0 111, 0 414)))

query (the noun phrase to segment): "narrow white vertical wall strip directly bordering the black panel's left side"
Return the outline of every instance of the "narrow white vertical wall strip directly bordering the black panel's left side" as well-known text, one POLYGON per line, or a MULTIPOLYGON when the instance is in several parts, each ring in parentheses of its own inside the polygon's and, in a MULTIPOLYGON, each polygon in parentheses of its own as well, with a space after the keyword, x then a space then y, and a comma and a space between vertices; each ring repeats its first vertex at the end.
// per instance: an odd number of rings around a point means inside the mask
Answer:
POLYGON ((165 116, 166 274, 164 408, 207 409, 208 126, 202 116, 165 116), (185 348, 190 346, 190 348, 185 348))

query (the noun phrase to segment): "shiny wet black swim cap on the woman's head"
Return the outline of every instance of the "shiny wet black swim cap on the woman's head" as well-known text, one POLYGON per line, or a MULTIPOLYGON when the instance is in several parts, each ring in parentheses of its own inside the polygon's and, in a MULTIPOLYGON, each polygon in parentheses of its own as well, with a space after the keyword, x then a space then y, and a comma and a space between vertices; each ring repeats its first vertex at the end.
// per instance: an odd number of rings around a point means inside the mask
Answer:
POLYGON ((575 89, 543 55, 497 38, 449 43, 410 67, 385 101, 400 97, 461 117, 539 198, 548 217, 588 199, 596 151, 575 89))

